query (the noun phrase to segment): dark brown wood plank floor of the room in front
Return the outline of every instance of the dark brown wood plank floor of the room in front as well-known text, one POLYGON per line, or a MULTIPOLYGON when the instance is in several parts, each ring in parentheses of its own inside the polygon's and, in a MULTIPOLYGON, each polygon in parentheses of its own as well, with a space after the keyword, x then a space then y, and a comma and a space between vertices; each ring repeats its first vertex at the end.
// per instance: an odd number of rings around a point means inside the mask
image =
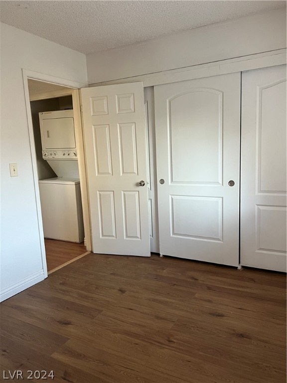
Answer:
POLYGON ((0 316, 5 371, 53 370, 60 383, 286 382, 280 273, 88 254, 4 301, 0 316))

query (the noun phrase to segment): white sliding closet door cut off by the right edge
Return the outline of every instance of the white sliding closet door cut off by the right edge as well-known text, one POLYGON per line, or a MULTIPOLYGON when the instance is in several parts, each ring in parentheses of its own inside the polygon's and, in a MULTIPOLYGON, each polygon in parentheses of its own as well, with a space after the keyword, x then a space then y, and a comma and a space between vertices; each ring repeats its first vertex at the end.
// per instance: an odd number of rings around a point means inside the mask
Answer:
POLYGON ((242 74, 241 264, 286 271, 286 65, 242 74))

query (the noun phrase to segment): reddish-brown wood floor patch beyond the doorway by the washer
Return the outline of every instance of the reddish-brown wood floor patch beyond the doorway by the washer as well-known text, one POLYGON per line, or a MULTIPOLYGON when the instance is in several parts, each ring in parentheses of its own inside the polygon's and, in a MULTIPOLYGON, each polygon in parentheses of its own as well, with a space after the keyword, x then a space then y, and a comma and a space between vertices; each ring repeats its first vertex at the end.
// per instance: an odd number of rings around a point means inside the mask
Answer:
POLYGON ((84 242, 74 243, 45 238, 48 272, 85 253, 84 242))

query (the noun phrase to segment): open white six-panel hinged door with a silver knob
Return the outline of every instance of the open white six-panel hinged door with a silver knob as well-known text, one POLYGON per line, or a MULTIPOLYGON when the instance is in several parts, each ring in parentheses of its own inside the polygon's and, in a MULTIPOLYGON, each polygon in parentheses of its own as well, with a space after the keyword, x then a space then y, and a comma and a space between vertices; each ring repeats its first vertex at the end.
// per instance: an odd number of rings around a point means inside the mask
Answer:
POLYGON ((150 256, 143 83, 81 98, 93 252, 150 256))

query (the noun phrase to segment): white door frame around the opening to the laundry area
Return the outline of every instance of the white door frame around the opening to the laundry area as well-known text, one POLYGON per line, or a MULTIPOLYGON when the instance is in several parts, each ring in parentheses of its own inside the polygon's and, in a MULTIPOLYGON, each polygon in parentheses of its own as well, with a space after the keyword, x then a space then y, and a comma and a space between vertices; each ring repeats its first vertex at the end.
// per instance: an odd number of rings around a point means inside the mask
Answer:
POLYGON ((81 196, 82 196, 82 205, 83 205, 85 246, 87 248, 87 251, 91 251, 92 241, 91 241, 90 209, 89 209, 85 149, 84 149, 82 119, 81 119, 81 109, 80 109, 80 97, 79 97, 79 89, 85 88, 87 84, 70 81, 64 78, 54 77, 48 74, 34 72, 27 69, 22 69, 22 77, 23 77, 24 97, 25 97, 25 104, 26 104, 28 136, 29 136, 30 155, 31 155, 31 162, 32 162, 34 197, 35 197, 36 210, 37 210, 38 233, 39 233, 39 240, 40 240, 42 267, 44 272, 44 278, 47 278, 48 272, 47 272, 47 263, 46 263, 46 251, 45 251, 45 242, 44 242, 40 192, 39 192, 39 185, 38 185, 37 158, 36 158, 36 150, 35 150, 35 142, 34 142, 34 132, 33 132, 30 101, 72 95, 73 110, 74 110, 75 138, 76 138, 76 145, 77 145, 77 151, 78 151, 79 175, 80 175, 81 196), (55 92, 42 93, 42 94, 39 94, 37 97, 32 98, 32 100, 30 100, 29 89, 28 89, 28 79, 47 82, 47 83, 60 85, 60 86, 66 86, 67 90, 59 90, 55 92))

